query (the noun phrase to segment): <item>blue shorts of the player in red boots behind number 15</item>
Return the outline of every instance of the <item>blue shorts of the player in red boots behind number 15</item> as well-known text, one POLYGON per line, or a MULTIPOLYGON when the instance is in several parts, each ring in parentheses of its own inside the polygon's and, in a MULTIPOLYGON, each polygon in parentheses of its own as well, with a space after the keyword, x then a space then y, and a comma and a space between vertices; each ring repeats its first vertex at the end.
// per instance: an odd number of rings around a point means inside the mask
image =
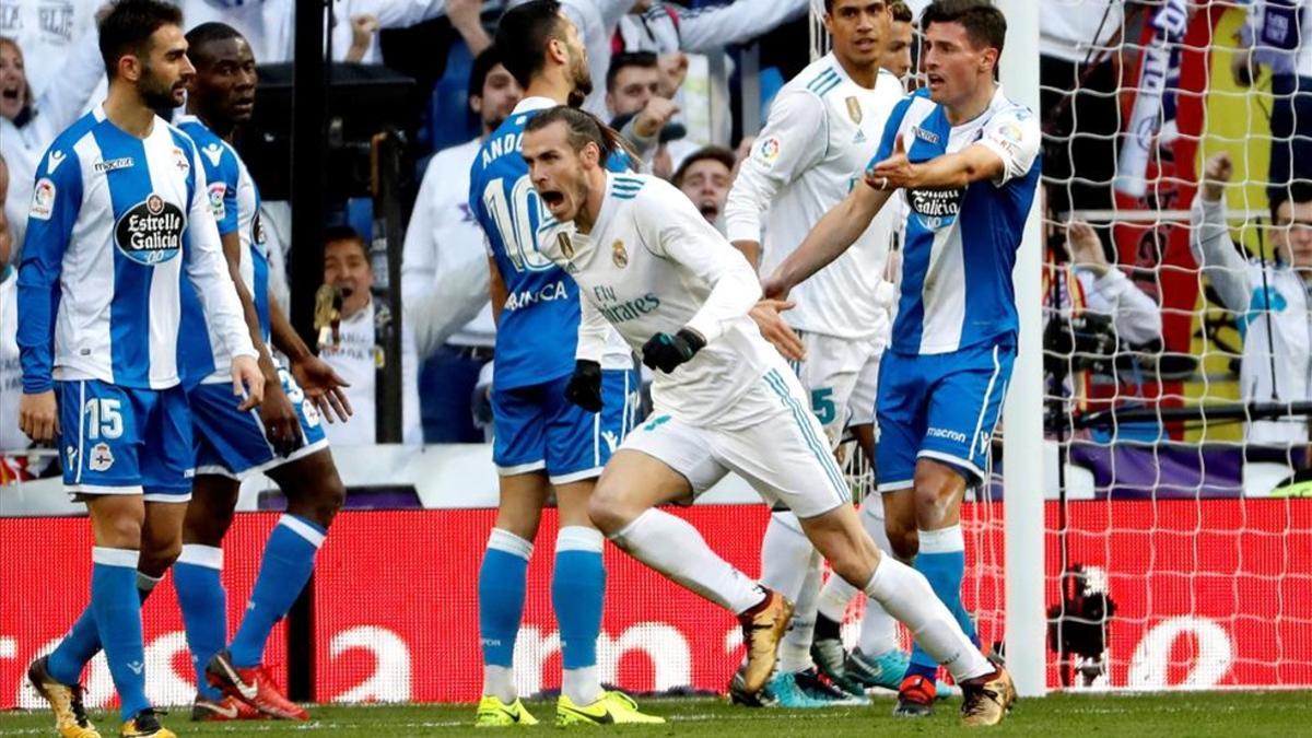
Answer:
POLYGON ((303 445, 287 457, 278 456, 264 435, 260 410, 239 411, 231 383, 197 385, 186 393, 195 424, 197 474, 240 479, 245 474, 273 469, 328 448, 319 411, 306 402, 306 394, 290 372, 279 366, 278 377, 282 380, 282 391, 287 393, 287 399, 300 418, 303 445))

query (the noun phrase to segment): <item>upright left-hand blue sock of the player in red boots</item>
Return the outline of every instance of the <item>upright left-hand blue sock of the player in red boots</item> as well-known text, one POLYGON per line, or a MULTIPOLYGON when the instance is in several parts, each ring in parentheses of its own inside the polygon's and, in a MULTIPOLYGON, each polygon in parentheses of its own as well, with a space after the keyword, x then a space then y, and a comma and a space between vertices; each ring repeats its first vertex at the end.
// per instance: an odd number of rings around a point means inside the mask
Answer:
POLYGON ((223 549, 186 544, 173 565, 173 588, 186 626, 186 646, 195 667, 195 688, 213 701, 223 693, 205 679, 205 664, 228 642, 228 596, 219 575, 223 571, 223 549))

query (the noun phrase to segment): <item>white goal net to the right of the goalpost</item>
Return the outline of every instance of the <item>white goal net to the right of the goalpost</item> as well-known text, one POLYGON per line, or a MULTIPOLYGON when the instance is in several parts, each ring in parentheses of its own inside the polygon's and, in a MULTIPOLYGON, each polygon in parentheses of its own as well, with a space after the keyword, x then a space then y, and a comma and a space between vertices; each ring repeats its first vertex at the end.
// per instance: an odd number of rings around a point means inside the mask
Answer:
MULTIPOLYGON (((1038 5, 1048 688, 1312 684, 1312 18, 1284 5, 1038 5)), ((963 510, 985 647, 1026 494, 998 466, 963 510)))

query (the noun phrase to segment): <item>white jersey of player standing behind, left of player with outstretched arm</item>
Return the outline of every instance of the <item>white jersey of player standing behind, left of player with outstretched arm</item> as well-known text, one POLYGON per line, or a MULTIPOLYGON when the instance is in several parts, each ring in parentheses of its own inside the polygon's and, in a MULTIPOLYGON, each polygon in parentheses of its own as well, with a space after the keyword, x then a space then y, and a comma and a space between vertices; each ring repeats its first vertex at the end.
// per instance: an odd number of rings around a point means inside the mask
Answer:
MULTIPOLYGON (((770 274, 848 197, 903 95, 897 77, 883 70, 874 89, 861 87, 832 53, 783 85, 724 209, 729 240, 761 240, 761 213, 769 211, 761 274, 770 274)), ((887 334, 888 306, 878 288, 893 218, 884 209, 851 248, 794 288, 789 324, 851 339, 887 334)))

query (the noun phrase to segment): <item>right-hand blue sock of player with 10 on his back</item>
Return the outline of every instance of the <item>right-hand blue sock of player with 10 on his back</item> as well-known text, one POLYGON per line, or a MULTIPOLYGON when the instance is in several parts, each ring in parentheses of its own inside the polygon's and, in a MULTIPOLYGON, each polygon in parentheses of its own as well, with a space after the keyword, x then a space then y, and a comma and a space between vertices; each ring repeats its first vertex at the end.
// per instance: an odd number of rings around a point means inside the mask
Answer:
POLYGON ((597 666, 601 605, 606 599, 604 541, 600 531, 583 525, 562 528, 556 537, 551 607, 560 624, 560 653, 567 670, 597 666))

